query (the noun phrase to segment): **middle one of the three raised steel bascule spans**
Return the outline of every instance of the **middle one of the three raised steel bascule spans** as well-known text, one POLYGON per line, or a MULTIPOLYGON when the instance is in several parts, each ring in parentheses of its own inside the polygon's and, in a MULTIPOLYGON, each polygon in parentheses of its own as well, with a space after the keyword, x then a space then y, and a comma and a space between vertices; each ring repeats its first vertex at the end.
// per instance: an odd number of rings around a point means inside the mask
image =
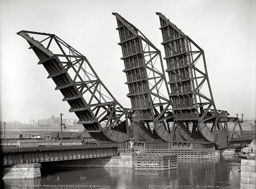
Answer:
MULTIPOLYGON (((171 141, 172 101, 168 98, 168 86, 160 51, 135 26, 112 13, 117 19, 122 47, 129 93, 131 100, 133 123, 141 126, 143 121, 148 129, 148 138, 153 137, 149 123, 153 122, 154 130, 160 138, 171 141), (167 98, 165 97, 167 96, 167 98)), ((146 138, 144 138, 146 139, 146 138)))

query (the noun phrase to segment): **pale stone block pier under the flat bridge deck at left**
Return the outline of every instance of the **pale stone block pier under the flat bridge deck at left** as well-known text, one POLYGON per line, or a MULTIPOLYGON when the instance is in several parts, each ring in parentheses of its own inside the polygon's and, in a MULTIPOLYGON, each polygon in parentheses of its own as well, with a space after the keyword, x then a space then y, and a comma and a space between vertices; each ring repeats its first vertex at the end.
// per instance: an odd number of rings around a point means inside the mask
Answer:
POLYGON ((4 168, 3 179, 35 179, 41 177, 40 163, 9 165, 4 168))

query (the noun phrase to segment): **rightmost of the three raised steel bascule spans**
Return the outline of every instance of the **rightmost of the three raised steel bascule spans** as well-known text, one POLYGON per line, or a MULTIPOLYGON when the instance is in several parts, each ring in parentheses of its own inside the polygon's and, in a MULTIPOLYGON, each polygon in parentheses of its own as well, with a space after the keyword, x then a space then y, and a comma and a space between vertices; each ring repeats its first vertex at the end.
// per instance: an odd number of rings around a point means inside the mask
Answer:
POLYGON ((159 15, 163 35, 161 44, 165 50, 171 88, 169 96, 177 128, 186 128, 186 140, 203 136, 214 142, 216 129, 223 128, 213 101, 203 49, 163 14, 156 14, 159 15))

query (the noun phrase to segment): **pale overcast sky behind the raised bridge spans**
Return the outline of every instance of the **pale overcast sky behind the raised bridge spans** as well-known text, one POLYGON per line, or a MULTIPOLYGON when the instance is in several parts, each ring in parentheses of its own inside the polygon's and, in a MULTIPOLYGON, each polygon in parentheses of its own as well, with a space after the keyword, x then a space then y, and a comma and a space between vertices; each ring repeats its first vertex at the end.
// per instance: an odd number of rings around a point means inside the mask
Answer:
POLYGON ((112 12, 141 30, 163 57, 155 13, 164 14, 204 50, 216 108, 256 117, 255 0, 1 0, 0 120, 28 122, 60 113, 77 118, 16 34, 20 30, 56 34, 86 56, 119 103, 130 108, 112 12))

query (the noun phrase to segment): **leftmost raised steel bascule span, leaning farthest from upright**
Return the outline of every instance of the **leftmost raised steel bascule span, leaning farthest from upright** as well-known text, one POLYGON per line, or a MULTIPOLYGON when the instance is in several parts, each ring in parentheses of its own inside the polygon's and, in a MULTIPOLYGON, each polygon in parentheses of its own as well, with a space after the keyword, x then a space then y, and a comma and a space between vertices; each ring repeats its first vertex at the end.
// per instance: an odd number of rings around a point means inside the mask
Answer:
POLYGON ((97 139, 129 140, 131 112, 117 102, 85 56, 55 34, 23 30, 17 34, 30 44, 40 60, 38 64, 47 70, 55 90, 61 91, 63 101, 69 103, 69 111, 75 113, 85 131, 97 139))

